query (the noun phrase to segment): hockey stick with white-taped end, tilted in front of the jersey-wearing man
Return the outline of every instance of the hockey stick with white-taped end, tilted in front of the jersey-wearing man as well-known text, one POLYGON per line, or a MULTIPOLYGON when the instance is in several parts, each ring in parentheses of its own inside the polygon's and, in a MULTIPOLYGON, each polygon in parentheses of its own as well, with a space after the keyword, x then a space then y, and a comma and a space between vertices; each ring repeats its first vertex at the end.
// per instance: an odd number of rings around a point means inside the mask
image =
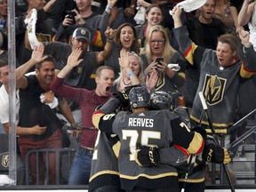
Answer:
MULTIPOLYGON (((202 102, 202 106, 203 106, 203 109, 204 109, 204 114, 205 114, 205 116, 207 118, 209 127, 210 127, 210 129, 212 131, 212 137, 216 140, 216 145, 221 148, 220 143, 219 143, 218 138, 217 138, 217 135, 216 135, 216 132, 215 132, 214 127, 212 125, 212 121, 211 121, 210 116, 208 114, 208 108, 207 108, 207 105, 206 105, 206 102, 205 102, 205 99, 204 99, 204 94, 203 94, 203 92, 198 92, 198 94, 199 94, 199 98, 200 98, 200 100, 202 102)), ((227 164, 222 164, 222 165, 223 165, 224 171, 225 171, 225 173, 227 175, 228 184, 230 186, 230 189, 231 189, 232 192, 235 192, 235 188, 234 188, 233 183, 232 183, 232 181, 230 179, 230 175, 229 175, 229 172, 228 172, 227 164)))

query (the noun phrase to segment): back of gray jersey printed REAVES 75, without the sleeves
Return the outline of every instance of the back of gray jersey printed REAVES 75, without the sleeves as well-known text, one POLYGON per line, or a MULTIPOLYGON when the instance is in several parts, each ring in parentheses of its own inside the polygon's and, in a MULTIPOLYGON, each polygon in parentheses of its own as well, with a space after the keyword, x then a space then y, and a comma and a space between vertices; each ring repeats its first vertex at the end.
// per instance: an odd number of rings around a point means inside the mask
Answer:
POLYGON ((140 146, 170 147, 172 144, 171 121, 177 117, 169 110, 117 114, 113 132, 121 140, 118 168, 123 189, 173 188, 175 191, 179 188, 174 167, 167 164, 140 167, 136 164, 134 156, 136 148, 140 146))

